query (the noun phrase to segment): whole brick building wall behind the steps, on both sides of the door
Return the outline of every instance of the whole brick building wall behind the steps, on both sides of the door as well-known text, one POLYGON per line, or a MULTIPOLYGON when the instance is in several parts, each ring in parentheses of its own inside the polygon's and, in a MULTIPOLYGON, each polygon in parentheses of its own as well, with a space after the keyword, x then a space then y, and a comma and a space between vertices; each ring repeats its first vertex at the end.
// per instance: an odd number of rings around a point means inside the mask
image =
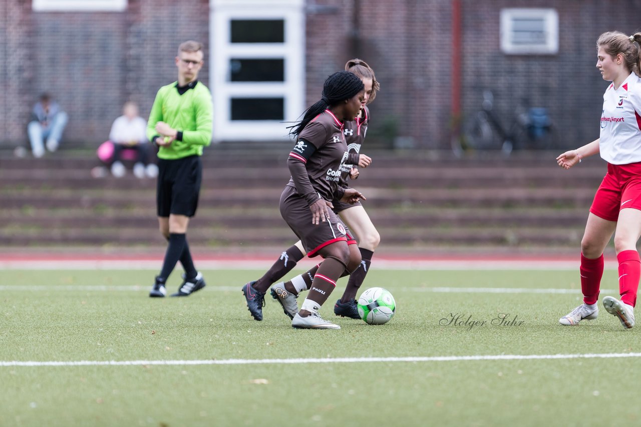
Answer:
MULTIPOLYGON (((641 3, 460 3, 465 117, 479 109, 481 91, 491 89, 495 108, 506 120, 519 106, 548 108, 560 147, 598 136, 606 83, 594 68, 595 41, 603 31, 640 28, 641 3), (520 6, 558 10, 558 54, 508 56, 499 50, 499 10, 520 6)), ((307 104, 319 99, 329 74, 358 56, 374 67, 381 83, 370 106, 372 143, 391 147, 394 136, 409 136, 417 147, 449 148, 451 87, 456 84, 451 79, 451 2, 316 0, 308 6, 307 104)), ((26 143, 29 108, 44 90, 69 112, 64 138, 69 142, 103 141, 128 99, 147 115, 156 90, 176 79, 178 44, 201 40, 208 52, 209 16, 208 0, 129 0, 123 13, 33 12, 29 1, 0 2, 0 147, 26 143)), ((206 54, 200 74, 206 85, 209 60, 206 54)))

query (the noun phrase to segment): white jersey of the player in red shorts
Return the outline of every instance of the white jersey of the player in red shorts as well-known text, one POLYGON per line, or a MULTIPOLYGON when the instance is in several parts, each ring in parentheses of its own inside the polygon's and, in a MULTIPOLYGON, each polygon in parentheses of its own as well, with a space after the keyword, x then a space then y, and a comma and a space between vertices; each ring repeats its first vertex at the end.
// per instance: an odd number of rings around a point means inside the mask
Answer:
POLYGON ((641 77, 632 73, 603 94, 601 158, 612 165, 641 162, 641 77))

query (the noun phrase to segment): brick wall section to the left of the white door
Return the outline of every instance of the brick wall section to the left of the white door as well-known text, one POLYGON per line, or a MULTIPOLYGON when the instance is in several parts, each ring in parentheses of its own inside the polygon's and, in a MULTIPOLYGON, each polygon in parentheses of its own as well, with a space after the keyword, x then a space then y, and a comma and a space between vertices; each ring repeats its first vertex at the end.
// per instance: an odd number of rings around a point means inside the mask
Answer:
MULTIPOLYGON (((41 92, 69 113, 65 142, 97 145, 125 101, 149 113, 158 88, 176 79, 181 42, 193 38, 209 49, 208 0, 129 0, 124 13, 33 12, 29 1, 17 0, 1 7, 3 146, 26 144, 29 111, 41 92)), ((200 77, 207 85, 207 62, 200 77)))

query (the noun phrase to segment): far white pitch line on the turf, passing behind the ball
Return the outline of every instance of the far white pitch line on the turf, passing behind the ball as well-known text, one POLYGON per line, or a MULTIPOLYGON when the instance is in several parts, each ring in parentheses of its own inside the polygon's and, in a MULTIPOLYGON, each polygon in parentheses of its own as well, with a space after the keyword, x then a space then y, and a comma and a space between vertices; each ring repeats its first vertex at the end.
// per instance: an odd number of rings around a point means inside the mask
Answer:
MULTIPOLYGON (((56 292, 147 292, 142 286, 90 286, 90 285, 0 285, 1 291, 56 291, 56 292)), ((206 291, 240 292, 240 286, 208 286, 206 291)), ((472 293, 472 294, 580 294, 581 289, 554 289, 528 287, 394 287, 394 291, 428 293, 472 293)), ((601 289, 604 294, 617 294, 615 289, 601 289)))

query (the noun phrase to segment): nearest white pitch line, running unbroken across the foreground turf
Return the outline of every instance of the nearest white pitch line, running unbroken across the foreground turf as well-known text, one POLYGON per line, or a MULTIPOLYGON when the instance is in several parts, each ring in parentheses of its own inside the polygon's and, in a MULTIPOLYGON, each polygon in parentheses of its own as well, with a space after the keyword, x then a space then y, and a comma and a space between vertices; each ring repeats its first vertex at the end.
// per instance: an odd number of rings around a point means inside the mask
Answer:
POLYGON ((286 365, 322 363, 397 363, 397 362, 467 362, 474 360, 545 360, 545 359, 620 359, 638 358, 641 353, 596 353, 556 355, 473 355, 433 357, 338 357, 335 359, 223 359, 223 360, 77 360, 77 361, 0 361, 0 367, 13 366, 188 366, 188 365, 286 365))

